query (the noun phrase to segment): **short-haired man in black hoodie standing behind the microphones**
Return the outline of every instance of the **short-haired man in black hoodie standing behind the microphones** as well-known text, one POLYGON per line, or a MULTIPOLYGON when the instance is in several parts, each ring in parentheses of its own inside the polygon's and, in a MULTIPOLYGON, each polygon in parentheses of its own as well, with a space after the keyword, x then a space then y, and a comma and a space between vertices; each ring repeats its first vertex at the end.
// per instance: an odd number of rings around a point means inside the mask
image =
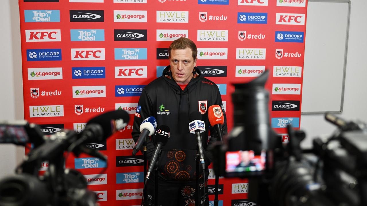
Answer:
MULTIPOLYGON (((205 122, 206 131, 201 133, 204 149, 208 146, 208 130, 210 129, 210 143, 216 140, 215 129, 209 127, 207 108, 218 104, 222 106, 221 94, 216 84, 201 77, 200 70, 196 67, 197 48, 193 41, 181 37, 172 42, 168 48, 170 65, 163 70, 161 77, 153 80, 142 91, 137 114, 134 117, 134 130, 131 135, 136 142, 140 134, 141 122, 150 116, 157 120, 159 125, 170 128, 170 139, 162 147, 158 161, 159 175, 149 178, 146 192, 149 205, 153 205, 154 181, 157 179, 158 205, 162 206, 188 206, 195 205, 195 192, 199 192, 200 204, 208 205, 208 192, 203 191, 203 171, 200 171, 200 188, 196 191, 195 174, 197 154, 197 140, 195 134, 189 132, 189 123, 195 119, 205 122)), ((223 108, 223 107, 222 107, 223 108)), ((223 110, 224 113, 224 110, 223 110)), ((227 131, 226 117, 222 125, 227 131)), ((147 158, 153 156, 155 146, 149 141, 147 158)), ((204 151, 206 172, 210 158, 204 151)), ((207 182, 206 182, 207 185, 207 182)))

